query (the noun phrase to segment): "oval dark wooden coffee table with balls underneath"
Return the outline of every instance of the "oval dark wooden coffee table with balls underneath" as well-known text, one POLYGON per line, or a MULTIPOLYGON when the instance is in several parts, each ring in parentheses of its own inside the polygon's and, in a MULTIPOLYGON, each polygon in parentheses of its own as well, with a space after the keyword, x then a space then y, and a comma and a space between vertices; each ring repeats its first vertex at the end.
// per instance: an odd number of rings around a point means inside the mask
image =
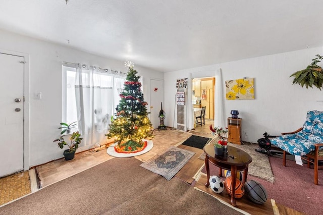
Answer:
POLYGON ((219 176, 222 177, 222 169, 230 170, 231 171, 231 204, 236 206, 236 199, 234 198, 234 193, 236 190, 236 179, 237 179, 237 172, 243 171, 243 181, 244 184, 247 180, 248 175, 248 165, 252 162, 252 157, 238 148, 228 146, 228 154, 224 156, 217 156, 214 152, 213 145, 206 145, 203 148, 205 152, 205 167, 206 167, 206 174, 207 174, 207 182, 205 187, 209 186, 209 178, 210 178, 210 169, 209 169, 209 162, 213 165, 216 165, 220 168, 219 176))

